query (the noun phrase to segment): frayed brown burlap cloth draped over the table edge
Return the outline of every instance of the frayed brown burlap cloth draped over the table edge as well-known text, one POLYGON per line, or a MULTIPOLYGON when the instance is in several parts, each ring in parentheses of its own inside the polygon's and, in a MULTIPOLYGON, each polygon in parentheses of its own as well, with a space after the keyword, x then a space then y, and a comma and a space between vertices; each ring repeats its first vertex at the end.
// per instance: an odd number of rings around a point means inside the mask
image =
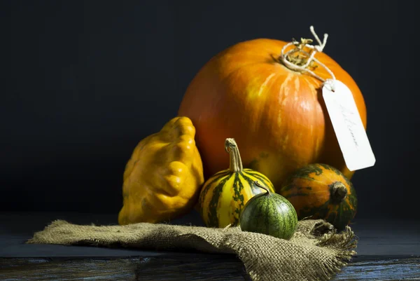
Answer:
POLYGON ((356 254, 351 228, 337 233, 321 220, 299 221, 290 240, 241 231, 170 224, 76 225, 57 220, 27 243, 133 247, 236 254, 252 280, 330 280, 356 254))

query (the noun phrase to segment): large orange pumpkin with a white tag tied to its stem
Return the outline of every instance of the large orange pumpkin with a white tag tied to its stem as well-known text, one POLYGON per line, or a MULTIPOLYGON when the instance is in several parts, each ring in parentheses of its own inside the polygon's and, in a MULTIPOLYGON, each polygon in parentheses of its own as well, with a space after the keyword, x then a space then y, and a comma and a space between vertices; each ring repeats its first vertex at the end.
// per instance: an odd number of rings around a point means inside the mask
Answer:
MULTIPOLYGON (((323 81, 281 63, 286 43, 237 43, 212 57, 188 86, 179 115, 197 129, 206 177, 229 165, 223 143, 232 137, 241 146, 244 167, 265 174, 276 189, 291 172, 315 162, 337 167, 351 179, 325 109, 323 81)), ((365 102, 353 78, 325 53, 315 58, 349 87, 366 127, 365 102)), ((316 75, 331 78, 320 65, 312 66, 316 75)))

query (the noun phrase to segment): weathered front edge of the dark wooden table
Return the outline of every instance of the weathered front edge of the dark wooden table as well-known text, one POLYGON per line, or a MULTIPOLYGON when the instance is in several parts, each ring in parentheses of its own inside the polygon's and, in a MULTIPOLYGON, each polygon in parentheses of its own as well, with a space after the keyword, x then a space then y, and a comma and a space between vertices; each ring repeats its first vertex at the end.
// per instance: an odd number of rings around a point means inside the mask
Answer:
MULTIPOLYGON (((420 256, 361 258, 333 280, 420 280, 420 256)), ((125 258, 3 258, 0 280, 233 280, 249 281, 230 255, 178 254, 125 258)))

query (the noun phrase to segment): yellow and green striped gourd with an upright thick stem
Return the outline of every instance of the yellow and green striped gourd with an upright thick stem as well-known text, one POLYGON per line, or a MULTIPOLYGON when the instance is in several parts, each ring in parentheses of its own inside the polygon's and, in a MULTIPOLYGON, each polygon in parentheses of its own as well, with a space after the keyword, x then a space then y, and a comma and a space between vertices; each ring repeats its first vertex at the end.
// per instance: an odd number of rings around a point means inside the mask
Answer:
POLYGON ((264 174, 244 169, 235 139, 225 139, 225 150, 230 156, 229 169, 207 179, 198 201, 198 209, 208 227, 237 226, 241 210, 248 200, 265 192, 255 185, 255 181, 274 193, 272 182, 264 174))

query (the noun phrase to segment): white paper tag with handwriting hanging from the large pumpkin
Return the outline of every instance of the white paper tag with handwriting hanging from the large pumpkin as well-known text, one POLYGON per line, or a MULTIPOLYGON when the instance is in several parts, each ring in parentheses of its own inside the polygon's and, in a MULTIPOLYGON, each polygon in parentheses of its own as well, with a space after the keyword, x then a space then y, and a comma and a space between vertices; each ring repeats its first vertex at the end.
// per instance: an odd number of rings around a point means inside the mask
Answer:
POLYGON ((322 94, 346 166, 351 171, 372 167, 376 159, 350 89, 341 81, 328 81, 322 94))

